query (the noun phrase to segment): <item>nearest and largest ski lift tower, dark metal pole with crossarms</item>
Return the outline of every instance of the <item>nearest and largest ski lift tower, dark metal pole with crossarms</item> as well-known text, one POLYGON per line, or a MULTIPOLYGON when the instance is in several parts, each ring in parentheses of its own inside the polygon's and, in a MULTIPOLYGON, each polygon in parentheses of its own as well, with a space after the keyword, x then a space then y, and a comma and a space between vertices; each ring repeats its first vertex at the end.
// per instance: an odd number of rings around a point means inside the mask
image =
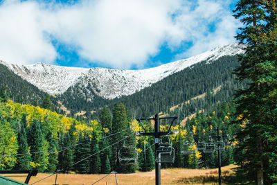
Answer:
MULTIPOLYGON (((155 132, 150 132, 147 133, 145 130, 145 127, 143 127, 144 133, 141 133, 142 136, 154 136, 155 137, 155 152, 159 151, 159 145, 160 145, 160 136, 166 136, 168 134, 177 134, 176 132, 170 131, 171 126, 173 125, 173 121, 175 121, 177 117, 163 117, 160 118, 159 114, 156 114, 154 118, 142 118, 142 119, 137 119, 137 121, 142 121, 142 120, 154 120, 155 121, 155 132), (167 132, 160 132, 160 120, 161 119, 172 119, 172 122, 170 124, 170 127, 168 128, 167 132)), ((161 155, 161 154, 157 154, 161 155)), ((155 174, 156 174, 156 185, 161 184, 161 161, 155 160, 155 174)))

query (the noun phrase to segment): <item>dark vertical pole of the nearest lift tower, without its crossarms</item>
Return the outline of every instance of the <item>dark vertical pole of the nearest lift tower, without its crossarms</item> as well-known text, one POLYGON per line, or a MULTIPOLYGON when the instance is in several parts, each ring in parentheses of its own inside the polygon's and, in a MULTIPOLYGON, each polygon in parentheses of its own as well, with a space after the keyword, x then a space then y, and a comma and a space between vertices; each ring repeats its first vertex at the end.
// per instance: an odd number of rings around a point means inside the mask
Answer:
MULTIPOLYGON (((159 132, 160 132, 160 117, 159 114, 155 115, 155 150, 159 148, 159 132)), ((158 154, 161 155, 161 154, 158 154)), ((161 185, 161 163, 155 161, 156 185, 161 185)))

